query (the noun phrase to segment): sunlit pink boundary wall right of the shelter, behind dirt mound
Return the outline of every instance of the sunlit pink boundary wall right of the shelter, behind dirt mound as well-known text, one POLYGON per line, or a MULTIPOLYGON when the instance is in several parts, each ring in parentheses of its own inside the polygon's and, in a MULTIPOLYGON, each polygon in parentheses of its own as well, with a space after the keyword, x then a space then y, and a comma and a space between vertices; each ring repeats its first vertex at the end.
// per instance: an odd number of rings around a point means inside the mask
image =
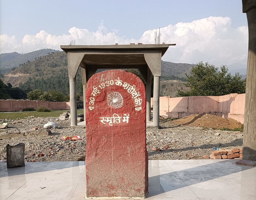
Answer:
MULTIPOLYGON (((245 94, 224 96, 160 97, 159 114, 173 118, 209 113, 225 119, 233 118, 244 124, 245 94)), ((153 98, 151 98, 151 107, 153 98)))

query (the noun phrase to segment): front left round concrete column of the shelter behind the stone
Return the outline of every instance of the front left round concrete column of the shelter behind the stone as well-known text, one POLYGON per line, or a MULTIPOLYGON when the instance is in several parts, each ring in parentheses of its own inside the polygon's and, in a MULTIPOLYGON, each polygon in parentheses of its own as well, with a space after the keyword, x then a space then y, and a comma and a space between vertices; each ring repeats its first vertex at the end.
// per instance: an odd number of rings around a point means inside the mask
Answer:
POLYGON ((69 96, 70 96, 70 116, 71 126, 77 126, 77 110, 76 110, 76 77, 69 78, 69 96))

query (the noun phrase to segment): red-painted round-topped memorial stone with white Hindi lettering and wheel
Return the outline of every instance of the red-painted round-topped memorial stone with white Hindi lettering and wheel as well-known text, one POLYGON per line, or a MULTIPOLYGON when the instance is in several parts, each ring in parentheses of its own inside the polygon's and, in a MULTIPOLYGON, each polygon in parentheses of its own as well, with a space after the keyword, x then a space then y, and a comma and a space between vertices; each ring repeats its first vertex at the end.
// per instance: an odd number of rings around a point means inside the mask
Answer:
POLYGON ((145 197, 148 192, 146 94, 123 70, 93 75, 86 86, 86 197, 145 197))

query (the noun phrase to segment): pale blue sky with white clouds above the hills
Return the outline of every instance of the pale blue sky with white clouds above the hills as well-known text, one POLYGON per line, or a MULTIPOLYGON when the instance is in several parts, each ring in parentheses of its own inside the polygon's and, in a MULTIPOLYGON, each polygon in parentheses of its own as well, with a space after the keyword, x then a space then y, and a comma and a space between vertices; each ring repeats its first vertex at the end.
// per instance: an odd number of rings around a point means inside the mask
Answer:
POLYGON ((246 64, 242 0, 0 0, 0 53, 76 44, 176 43, 163 60, 246 64))

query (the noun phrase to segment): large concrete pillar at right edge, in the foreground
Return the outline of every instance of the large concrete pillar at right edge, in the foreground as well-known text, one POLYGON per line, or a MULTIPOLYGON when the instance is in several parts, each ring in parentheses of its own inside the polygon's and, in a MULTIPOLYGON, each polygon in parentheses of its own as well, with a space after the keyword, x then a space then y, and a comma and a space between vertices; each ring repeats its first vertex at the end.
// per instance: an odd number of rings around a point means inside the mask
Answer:
POLYGON ((243 0, 249 32, 244 108, 243 159, 256 161, 256 1, 243 0))

